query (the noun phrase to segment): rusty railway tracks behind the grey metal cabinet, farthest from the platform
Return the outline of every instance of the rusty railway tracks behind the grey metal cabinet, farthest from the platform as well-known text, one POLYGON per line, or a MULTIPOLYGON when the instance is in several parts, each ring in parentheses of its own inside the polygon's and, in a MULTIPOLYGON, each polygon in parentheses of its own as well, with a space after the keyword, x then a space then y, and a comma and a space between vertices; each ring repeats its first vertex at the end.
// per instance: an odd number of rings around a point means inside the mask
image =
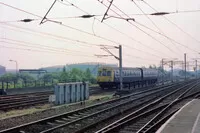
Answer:
MULTIPOLYGON (((150 89, 150 87, 137 88, 134 91, 139 92, 145 89, 150 89)), ((90 95, 114 91, 115 89, 102 90, 99 87, 91 87, 90 95)), ((8 111, 11 109, 26 108, 38 104, 45 104, 48 103, 48 98, 51 94, 53 94, 53 91, 0 96, 0 111, 8 111)))

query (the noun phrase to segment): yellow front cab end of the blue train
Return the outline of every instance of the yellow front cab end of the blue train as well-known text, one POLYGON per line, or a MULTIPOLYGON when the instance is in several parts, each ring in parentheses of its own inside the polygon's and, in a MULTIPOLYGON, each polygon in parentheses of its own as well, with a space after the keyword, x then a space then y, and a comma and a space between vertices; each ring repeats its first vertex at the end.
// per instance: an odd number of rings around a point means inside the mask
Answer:
POLYGON ((112 68, 99 68, 98 76, 97 76, 97 83, 99 86, 104 88, 112 88, 115 86, 114 84, 114 71, 112 68))

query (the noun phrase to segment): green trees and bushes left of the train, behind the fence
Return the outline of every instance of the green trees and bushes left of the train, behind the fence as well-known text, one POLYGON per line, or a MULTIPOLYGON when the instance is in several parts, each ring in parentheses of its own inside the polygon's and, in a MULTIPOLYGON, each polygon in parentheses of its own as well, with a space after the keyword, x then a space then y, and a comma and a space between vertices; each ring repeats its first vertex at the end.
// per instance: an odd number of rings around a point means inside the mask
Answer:
POLYGON ((34 78, 29 73, 5 74, 0 77, 0 88, 22 88, 36 86, 52 86, 55 83, 67 82, 90 82, 96 83, 96 78, 92 75, 90 69, 82 71, 78 68, 73 68, 66 71, 65 67, 62 72, 46 73, 39 79, 34 78))

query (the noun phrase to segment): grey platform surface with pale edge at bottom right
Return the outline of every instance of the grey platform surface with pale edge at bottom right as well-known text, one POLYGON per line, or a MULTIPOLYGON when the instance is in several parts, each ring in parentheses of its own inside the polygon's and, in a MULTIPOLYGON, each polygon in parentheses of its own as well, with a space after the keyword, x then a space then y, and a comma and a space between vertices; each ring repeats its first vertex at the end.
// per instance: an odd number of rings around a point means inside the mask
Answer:
POLYGON ((200 99, 184 105, 156 133, 200 133, 200 99))

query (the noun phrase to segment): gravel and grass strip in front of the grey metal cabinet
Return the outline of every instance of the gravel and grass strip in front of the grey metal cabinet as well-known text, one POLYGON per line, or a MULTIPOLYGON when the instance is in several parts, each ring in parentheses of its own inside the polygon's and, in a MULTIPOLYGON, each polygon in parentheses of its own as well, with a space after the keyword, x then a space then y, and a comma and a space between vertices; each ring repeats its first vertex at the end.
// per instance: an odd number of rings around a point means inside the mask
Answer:
MULTIPOLYGON (((85 106, 89 106, 92 104, 106 101, 111 98, 111 94, 112 93, 91 96, 90 100, 88 100, 85 103, 85 106)), ((53 108, 49 108, 49 109, 42 110, 42 111, 33 112, 31 114, 15 116, 15 117, 10 117, 10 118, 4 118, 4 119, 0 118, 0 123, 1 123, 0 130, 11 128, 11 127, 18 126, 21 124, 25 124, 25 123, 28 123, 31 121, 36 121, 36 120, 50 117, 53 115, 69 112, 71 110, 75 110, 75 109, 82 108, 82 107, 84 107, 84 105, 81 105, 80 103, 74 103, 71 105, 62 105, 62 106, 53 107, 53 108)), ((0 113, 2 113, 2 112, 0 112, 0 113)))

